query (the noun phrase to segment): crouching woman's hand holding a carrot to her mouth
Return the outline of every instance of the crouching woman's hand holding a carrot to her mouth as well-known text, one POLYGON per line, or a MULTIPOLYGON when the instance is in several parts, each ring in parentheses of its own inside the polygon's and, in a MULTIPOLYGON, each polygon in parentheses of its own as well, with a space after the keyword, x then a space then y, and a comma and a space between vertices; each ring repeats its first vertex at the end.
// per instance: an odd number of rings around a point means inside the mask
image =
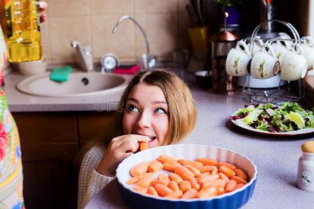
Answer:
POLYGON ((105 176, 114 176, 118 164, 137 151, 140 141, 148 142, 149 137, 128 134, 112 139, 96 171, 105 176))

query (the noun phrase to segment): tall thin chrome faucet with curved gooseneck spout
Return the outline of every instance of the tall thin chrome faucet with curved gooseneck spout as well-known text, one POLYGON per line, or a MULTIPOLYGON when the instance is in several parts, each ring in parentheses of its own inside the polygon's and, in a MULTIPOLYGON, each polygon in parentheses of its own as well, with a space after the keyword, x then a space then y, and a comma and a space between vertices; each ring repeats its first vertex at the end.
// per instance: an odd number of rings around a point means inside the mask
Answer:
POLYGON ((140 31, 142 32, 142 34, 144 36, 145 43, 146 43, 147 53, 142 54, 140 59, 143 62, 145 69, 152 70, 154 68, 154 66, 156 65, 156 59, 154 58, 154 56, 152 56, 149 53, 149 42, 147 41, 147 36, 146 36, 145 31, 142 29, 140 24, 138 24, 138 22, 133 17, 130 17, 128 15, 124 15, 124 16, 120 17, 118 22, 114 25, 114 28, 112 29, 112 33, 117 33, 118 28, 119 28, 119 24, 124 20, 132 20, 138 26, 140 31))

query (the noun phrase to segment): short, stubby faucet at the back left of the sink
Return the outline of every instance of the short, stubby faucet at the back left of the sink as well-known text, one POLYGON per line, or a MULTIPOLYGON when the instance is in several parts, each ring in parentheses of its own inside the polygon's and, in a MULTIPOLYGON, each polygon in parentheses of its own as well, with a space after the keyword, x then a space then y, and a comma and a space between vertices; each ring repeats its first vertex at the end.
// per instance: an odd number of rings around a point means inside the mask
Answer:
POLYGON ((84 71, 89 72, 94 69, 91 46, 82 46, 80 42, 73 40, 70 42, 71 47, 76 49, 79 56, 80 64, 84 71))

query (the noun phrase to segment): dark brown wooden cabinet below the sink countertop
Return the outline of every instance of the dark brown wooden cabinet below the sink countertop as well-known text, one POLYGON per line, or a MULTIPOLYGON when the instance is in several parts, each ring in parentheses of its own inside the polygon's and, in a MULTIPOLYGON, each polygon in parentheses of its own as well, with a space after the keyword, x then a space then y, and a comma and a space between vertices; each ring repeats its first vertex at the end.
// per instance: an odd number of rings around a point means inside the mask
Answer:
POLYGON ((110 140, 116 112, 13 113, 20 134, 26 208, 76 208, 75 157, 91 139, 110 140))

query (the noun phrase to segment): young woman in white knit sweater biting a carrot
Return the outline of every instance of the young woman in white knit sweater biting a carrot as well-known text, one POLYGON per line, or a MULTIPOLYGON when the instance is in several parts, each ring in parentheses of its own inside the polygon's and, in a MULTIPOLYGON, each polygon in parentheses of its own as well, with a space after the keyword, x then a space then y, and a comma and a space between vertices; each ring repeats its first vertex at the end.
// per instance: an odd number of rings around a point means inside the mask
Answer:
POLYGON ((109 146, 94 146, 84 155, 78 185, 77 208, 114 179, 118 164, 133 155, 140 141, 149 148, 175 144, 195 126, 195 101, 184 82, 167 70, 140 72, 128 84, 119 104, 123 135, 109 146))

